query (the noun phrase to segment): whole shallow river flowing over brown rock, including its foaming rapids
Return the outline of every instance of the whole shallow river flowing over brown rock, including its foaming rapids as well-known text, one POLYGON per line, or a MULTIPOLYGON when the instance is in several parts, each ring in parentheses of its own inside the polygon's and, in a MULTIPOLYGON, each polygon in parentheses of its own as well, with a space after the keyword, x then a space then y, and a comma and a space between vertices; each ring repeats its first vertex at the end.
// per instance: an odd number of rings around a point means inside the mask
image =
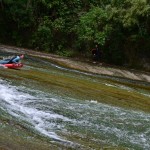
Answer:
POLYGON ((150 149, 149 111, 115 106, 110 101, 115 101, 116 95, 111 94, 116 91, 127 99, 134 94, 131 100, 143 98, 150 104, 149 83, 139 82, 138 87, 120 84, 122 79, 109 81, 109 77, 30 56, 24 63, 21 70, 0 68, 0 109, 29 130, 66 148, 150 149))

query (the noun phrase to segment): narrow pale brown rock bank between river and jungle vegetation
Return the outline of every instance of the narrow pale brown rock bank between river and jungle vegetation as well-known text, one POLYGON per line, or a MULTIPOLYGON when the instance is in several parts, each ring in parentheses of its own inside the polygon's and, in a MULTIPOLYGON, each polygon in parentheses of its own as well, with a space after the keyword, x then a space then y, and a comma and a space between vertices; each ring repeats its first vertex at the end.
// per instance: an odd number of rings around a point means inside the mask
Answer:
POLYGON ((24 48, 13 47, 13 46, 0 45, 0 50, 13 52, 15 54, 23 53, 35 57, 46 58, 59 65, 69 67, 72 69, 77 69, 80 71, 150 82, 149 72, 108 66, 102 63, 93 63, 92 61, 88 61, 88 60, 81 61, 78 58, 66 58, 54 54, 33 51, 33 50, 28 50, 24 48))

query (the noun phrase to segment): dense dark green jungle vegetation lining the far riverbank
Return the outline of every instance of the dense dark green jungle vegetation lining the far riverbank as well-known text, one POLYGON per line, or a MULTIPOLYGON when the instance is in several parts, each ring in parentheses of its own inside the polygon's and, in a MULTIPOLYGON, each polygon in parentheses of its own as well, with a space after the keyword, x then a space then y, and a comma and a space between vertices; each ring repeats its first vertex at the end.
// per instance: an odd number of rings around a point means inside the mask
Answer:
POLYGON ((150 1, 0 0, 0 43, 148 69, 150 1))

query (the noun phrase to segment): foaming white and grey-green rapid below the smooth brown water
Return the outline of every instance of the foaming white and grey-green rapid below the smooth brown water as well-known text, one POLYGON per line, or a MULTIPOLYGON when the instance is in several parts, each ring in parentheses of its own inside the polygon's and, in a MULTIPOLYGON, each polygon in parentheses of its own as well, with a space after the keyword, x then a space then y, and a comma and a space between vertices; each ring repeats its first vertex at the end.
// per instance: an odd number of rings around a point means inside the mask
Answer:
POLYGON ((133 149, 150 148, 150 115, 60 97, 0 80, 0 108, 54 141, 80 145, 65 135, 133 149))

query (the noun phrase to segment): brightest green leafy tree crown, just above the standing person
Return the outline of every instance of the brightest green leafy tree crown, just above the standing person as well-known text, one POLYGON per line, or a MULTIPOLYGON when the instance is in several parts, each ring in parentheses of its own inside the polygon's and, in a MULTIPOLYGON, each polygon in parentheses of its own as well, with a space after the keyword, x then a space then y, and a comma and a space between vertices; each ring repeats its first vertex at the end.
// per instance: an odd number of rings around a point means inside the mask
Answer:
POLYGON ((80 17, 78 37, 81 41, 94 41, 104 45, 107 33, 108 14, 99 7, 93 7, 88 13, 80 17))

